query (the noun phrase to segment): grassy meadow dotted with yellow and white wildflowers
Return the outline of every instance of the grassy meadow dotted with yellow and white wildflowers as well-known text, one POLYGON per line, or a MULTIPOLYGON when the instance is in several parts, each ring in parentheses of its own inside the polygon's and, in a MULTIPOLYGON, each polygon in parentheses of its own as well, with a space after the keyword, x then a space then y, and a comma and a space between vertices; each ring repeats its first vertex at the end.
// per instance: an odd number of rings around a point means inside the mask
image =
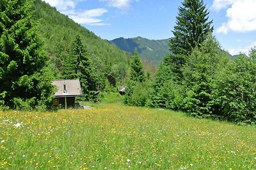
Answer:
POLYGON ((255 130, 120 103, 0 111, 0 169, 256 169, 255 130))

